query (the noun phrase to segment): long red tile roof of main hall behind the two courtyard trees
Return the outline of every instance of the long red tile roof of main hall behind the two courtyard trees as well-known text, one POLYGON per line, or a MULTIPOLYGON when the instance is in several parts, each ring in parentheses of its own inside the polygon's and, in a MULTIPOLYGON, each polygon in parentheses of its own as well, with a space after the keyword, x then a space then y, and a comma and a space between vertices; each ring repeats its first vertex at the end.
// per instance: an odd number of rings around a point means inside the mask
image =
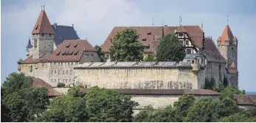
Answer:
MULTIPOLYGON (((201 48, 201 41, 203 40, 203 31, 199 26, 116 26, 108 35, 107 39, 102 45, 102 49, 104 52, 109 53, 109 48, 111 48, 110 39, 113 39, 115 34, 118 31, 122 31, 126 28, 134 28, 139 34, 139 42, 142 42, 143 45, 149 46, 148 49, 145 50, 145 53, 156 53, 157 46, 159 44, 159 40, 162 38, 162 33, 164 35, 170 34, 170 32, 174 33, 174 30, 186 31, 187 34, 193 40, 194 45, 197 48, 201 48), (164 32, 163 32, 163 31, 164 32), (151 31, 151 34, 148 34, 148 31, 151 31), (153 36, 155 36, 155 42, 153 42, 153 36), (145 38, 146 40, 142 40, 145 38)), ((218 52, 218 48, 215 43, 210 38, 205 38, 205 53, 207 59, 212 62, 225 62, 224 58, 221 56, 221 53, 218 52)))

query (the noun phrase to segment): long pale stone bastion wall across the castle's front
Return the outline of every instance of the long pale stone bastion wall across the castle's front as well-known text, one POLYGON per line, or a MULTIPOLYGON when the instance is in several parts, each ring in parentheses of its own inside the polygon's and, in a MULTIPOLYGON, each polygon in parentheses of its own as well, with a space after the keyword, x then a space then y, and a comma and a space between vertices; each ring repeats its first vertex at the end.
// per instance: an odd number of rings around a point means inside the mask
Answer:
MULTIPOLYGON (((111 64, 105 62, 107 63, 111 64)), ((103 64, 103 62, 94 64, 103 64)), ((87 88, 99 86, 106 89, 201 89, 201 82, 198 83, 201 80, 191 66, 84 67, 75 68, 75 71, 77 76, 75 84, 82 83, 87 88)))

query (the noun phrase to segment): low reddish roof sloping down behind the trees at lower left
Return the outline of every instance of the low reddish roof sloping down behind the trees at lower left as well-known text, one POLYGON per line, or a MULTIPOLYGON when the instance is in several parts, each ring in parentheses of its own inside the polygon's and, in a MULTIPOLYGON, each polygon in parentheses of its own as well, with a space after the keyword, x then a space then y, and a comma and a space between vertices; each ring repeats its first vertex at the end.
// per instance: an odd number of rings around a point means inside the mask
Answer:
POLYGON ((41 78, 33 78, 32 87, 33 88, 35 88, 35 87, 45 87, 46 89, 48 89, 48 96, 49 97, 57 97, 57 96, 61 96, 62 95, 59 92, 56 92, 52 88, 52 86, 49 85, 49 83, 46 83, 41 78))

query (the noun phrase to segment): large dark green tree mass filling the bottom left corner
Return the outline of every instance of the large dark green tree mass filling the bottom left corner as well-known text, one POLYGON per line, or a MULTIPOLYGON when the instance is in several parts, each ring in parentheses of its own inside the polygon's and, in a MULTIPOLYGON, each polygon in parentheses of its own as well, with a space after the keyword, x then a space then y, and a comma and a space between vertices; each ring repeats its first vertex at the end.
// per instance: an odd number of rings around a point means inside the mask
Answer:
POLYGON ((11 73, 1 86, 1 121, 30 122, 49 104, 46 88, 32 88, 32 78, 11 73))

